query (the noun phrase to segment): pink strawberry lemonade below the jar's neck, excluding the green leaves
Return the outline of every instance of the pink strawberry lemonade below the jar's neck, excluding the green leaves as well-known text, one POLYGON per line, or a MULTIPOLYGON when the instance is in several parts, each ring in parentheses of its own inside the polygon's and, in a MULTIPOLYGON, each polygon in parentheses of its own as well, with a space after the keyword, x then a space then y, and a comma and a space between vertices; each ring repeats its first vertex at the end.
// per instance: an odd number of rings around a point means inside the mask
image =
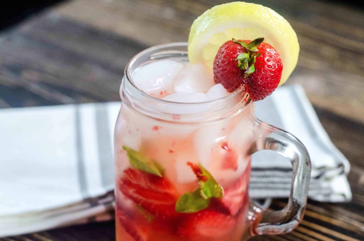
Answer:
POLYGON ((249 228, 249 149, 256 141, 251 111, 249 106, 219 123, 178 126, 143 119, 123 106, 115 139, 117 240, 241 240, 249 228), (162 177, 135 169, 122 146, 158 161, 162 177), (199 187, 191 163, 209 171, 223 197, 210 198, 197 212, 178 213, 177 200, 199 187))

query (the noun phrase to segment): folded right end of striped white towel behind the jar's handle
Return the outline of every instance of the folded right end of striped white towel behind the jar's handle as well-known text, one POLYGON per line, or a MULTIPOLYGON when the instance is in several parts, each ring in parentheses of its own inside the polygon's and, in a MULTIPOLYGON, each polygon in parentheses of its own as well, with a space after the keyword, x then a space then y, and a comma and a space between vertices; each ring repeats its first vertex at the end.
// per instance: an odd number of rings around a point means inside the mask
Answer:
MULTIPOLYGON (((309 198, 323 202, 351 199, 346 175, 350 164, 333 145, 316 112, 299 85, 280 87, 264 100, 256 102, 255 114, 273 126, 295 135, 311 158, 309 198)), ((250 196, 287 197, 292 178, 290 162, 279 154, 261 151, 253 155, 250 196)))

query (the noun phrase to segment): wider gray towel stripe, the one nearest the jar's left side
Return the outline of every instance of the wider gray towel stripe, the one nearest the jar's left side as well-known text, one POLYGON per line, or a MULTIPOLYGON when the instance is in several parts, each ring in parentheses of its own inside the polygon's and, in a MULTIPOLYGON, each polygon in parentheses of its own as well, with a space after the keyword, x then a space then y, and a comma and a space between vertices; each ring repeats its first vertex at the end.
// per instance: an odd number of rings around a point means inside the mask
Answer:
POLYGON ((107 105, 96 104, 96 137, 98 141, 98 151, 100 160, 100 170, 102 185, 106 191, 114 185, 114 161, 110 143, 110 129, 108 122, 107 105))

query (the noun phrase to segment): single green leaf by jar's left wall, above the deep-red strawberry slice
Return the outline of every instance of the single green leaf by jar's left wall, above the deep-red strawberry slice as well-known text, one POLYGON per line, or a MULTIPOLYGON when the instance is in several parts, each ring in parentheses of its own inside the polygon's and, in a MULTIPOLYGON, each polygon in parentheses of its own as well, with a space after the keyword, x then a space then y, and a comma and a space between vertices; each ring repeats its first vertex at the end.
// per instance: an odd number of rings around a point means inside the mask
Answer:
POLYGON ((123 149, 126 150, 132 167, 162 177, 164 169, 157 161, 127 146, 123 146, 123 149))

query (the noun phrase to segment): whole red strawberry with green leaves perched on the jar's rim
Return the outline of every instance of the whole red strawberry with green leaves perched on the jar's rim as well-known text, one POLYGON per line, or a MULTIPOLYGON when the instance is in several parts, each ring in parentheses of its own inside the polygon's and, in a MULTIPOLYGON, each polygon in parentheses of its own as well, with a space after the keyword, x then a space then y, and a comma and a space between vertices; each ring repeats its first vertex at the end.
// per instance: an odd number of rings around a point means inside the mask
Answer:
POLYGON ((229 40, 219 48, 214 60, 215 83, 233 92, 245 84, 252 100, 261 100, 277 87, 282 76, 282 61, 264 38, 229 40))

